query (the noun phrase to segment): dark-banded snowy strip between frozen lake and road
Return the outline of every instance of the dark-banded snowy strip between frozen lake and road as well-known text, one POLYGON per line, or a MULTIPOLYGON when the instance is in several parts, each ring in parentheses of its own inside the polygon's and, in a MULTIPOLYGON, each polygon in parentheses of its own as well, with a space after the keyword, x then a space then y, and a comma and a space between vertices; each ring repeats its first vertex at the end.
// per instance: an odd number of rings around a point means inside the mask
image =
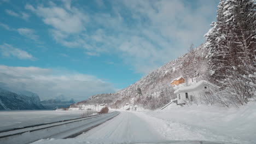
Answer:
POLYGON ((23 128, 13 128, 0 131, 0 143, 26 144, 40 139, 65 139, 75 137, 91 128, 100 125, 119 115, 120 112, 110 112, 83 118, 30 125, 23 128))

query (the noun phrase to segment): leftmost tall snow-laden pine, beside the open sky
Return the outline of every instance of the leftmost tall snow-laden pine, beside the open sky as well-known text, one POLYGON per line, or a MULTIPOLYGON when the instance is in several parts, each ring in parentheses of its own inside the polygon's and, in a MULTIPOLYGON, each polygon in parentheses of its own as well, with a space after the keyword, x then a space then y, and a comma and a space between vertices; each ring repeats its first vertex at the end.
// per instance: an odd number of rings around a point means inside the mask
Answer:
POLYGON ((212 28, 205 34, 205 47, 210 49, 207 58, 209 63, 210 81, 220 85, 223 83, 228 65, 228 49, 226 47, 226 25, 224 17, 224 1, 220 0, 217 10, 217 22, 212 22, 212 28))

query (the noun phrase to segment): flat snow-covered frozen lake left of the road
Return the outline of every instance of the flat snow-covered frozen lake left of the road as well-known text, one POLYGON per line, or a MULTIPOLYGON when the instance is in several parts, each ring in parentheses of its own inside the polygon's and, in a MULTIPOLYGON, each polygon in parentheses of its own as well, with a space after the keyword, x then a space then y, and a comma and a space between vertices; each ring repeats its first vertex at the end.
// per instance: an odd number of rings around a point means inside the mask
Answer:
POLYGON ((83 110, 0 111, 0 130, 81 117, 83 110))

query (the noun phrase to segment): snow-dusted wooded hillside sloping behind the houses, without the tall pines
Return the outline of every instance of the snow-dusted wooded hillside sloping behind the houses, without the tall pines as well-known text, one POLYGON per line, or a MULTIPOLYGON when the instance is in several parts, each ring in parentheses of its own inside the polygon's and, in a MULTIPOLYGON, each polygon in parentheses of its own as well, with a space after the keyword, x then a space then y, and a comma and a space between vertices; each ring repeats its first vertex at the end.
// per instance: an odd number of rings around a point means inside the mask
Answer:
MULTIPOLYGON (((183 76, 189 81, 207 79, 207 53, 208 50, 205 49, 202 44, 195 49, 190 50, 185 55, 178 57, 177 59, 174 59, 173 61, 170 61, 162 67, 152 71, 152 73, 149 73, 139 81, 121 89, 121 91, 117 93, 92 95, 89 99, 73 104, 71 107, 106 103, 112 108, 119 109, 126 103, 130 103, 132 98, 136 97, 137 88, 141 88, 142 99, 146 99, 148 95, 158 98, 162 92, 167 95, 167 98, 174 97, 171 81, 176 77, 183 76)), ((166 103, 167 102, 168 101, 166 101, 166 103)))

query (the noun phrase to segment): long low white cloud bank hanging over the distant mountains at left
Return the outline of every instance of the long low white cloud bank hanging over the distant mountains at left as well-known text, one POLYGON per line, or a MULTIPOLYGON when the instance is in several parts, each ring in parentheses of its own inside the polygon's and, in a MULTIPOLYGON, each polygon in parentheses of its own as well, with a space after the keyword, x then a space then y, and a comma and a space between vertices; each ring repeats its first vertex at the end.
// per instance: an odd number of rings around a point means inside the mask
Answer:
POLYGON ((37 93, 41 99, 64 94, 84 100, 93 94, 115 92, 111 83, 92 75, 38 67, 8 67, 0 65, 0 81, 10 88, 37 93))

